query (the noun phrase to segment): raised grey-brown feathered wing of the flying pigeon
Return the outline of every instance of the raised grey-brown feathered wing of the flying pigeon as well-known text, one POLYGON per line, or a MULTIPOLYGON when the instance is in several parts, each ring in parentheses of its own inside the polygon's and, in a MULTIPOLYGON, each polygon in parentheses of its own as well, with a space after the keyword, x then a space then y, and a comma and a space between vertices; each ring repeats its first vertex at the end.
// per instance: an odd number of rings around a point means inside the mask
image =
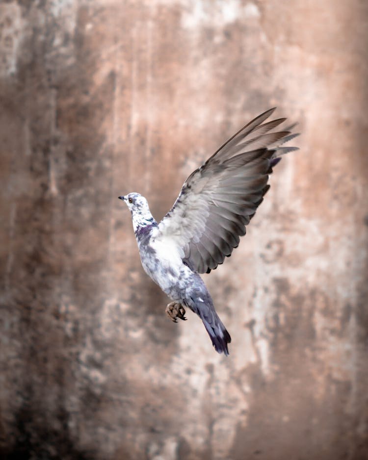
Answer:
POLYGON ((291 134, 293 126, 272 132, 285 118, 263 123, 274 110, 241 128, 193 171, 158 224, 155 238, 173 241, 192 270, 209 273, 231 255, 269 188, 272 166, 297 150, 280 147, 298 135, 291 134))

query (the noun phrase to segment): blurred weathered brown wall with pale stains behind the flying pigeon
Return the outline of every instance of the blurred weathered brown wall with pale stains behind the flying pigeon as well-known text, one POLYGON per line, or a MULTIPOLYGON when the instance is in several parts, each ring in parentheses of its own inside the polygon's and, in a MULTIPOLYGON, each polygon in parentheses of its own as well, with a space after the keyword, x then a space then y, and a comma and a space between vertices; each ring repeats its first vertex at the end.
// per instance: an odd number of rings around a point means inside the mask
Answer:
POLYGON ((368 3, 0 2, 5 459, 368 458, 368 3), (232 336, 172 323, 131 215, 264 110, 298 121, 204 280, 232 336))

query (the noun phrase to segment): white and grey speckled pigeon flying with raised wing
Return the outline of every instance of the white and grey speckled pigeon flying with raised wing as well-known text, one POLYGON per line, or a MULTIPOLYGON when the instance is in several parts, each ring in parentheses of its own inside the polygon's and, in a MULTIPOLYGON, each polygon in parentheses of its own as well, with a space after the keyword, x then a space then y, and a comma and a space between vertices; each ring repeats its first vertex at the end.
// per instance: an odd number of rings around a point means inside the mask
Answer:
POLYGON ((281 147, 298 135, 291 133, 295 125, 274 131, 286 118, 265 122, 275 108, 237 131, 193 171, 159 223, 139 193, 119 197, 131 211, 143 269, 172 300, 166 314, 177 322, 186 319, 185 308, 192 310, 215 350, 226 356, 231 337, 200 274, 231 256, 269 189, 272 168, 281 155, 298 150, 281 147))

